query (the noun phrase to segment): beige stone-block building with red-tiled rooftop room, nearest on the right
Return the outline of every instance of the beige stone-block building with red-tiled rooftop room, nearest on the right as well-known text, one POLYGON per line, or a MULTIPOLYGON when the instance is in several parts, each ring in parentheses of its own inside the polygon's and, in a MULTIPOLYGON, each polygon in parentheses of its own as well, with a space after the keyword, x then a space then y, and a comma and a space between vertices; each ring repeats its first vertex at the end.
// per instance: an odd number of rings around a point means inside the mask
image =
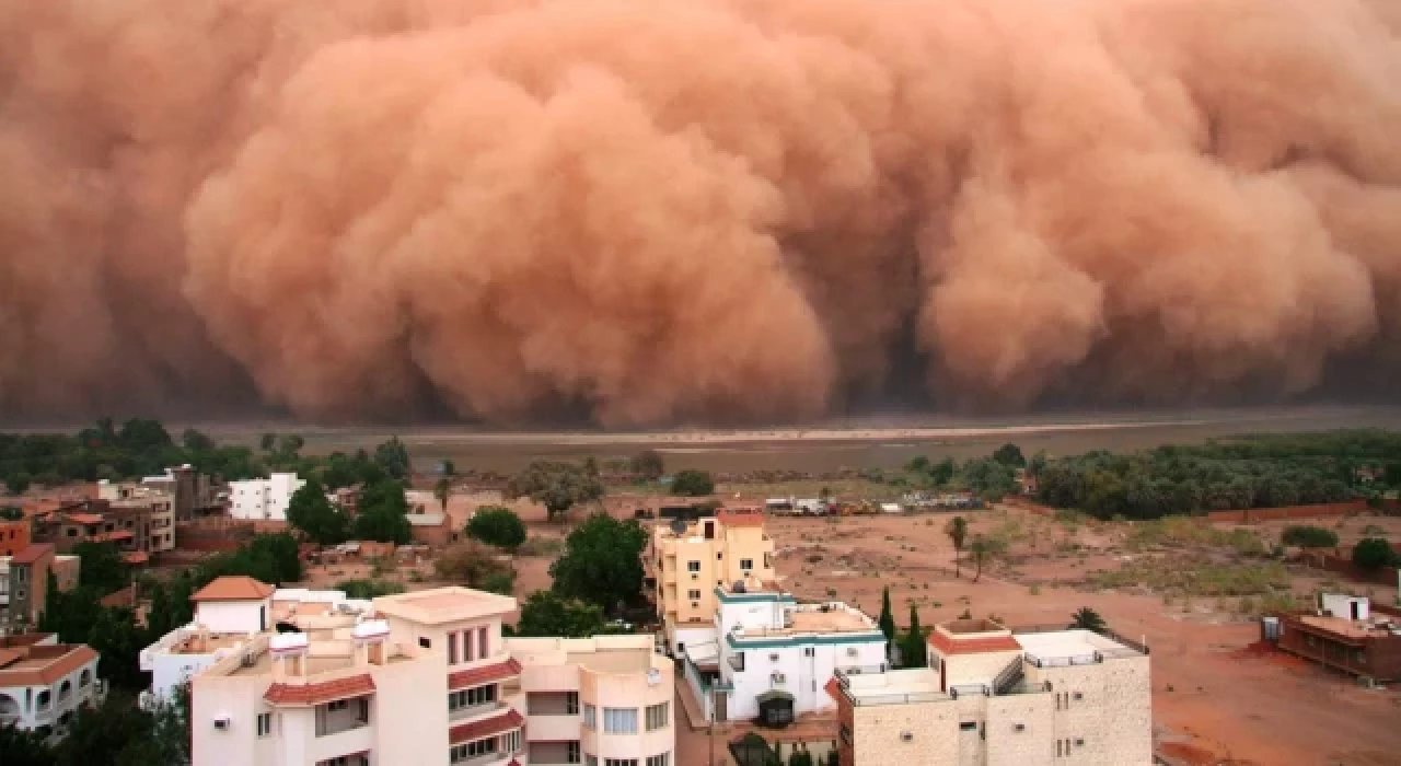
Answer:
POLYGON ((946 622, 927 668, 838 671, 829 690, 845 766, 1153 763, 1147 653, 1087 630, 946 622))

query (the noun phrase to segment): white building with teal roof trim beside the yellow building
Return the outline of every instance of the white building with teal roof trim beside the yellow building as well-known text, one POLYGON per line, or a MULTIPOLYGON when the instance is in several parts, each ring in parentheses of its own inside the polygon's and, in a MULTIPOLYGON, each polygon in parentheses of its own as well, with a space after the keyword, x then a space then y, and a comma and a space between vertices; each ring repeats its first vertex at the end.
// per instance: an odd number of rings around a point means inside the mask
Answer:
POLYGON ((762 717, 775 725, 836 707, 825 686, 839 669, 885 669, 885 634, 841 602, 799 604, 792 594, 717 585, 717 640, 685 647, 685 675, 706 718, 762 717))

